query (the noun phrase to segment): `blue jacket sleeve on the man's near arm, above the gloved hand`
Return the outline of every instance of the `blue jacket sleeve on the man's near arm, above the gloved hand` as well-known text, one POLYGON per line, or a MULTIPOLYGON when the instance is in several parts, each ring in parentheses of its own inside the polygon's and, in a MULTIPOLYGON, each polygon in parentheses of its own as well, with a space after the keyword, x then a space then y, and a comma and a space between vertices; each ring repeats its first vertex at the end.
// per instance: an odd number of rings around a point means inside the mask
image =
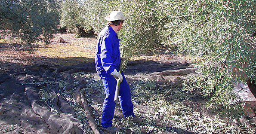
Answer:
POLYGON ((107 73, 112 73, 114 71, 114 64, 112 61, 112 41, 109 37, 105 37, 102 40, 101 46, 101 62, 102 67, 107 73))

